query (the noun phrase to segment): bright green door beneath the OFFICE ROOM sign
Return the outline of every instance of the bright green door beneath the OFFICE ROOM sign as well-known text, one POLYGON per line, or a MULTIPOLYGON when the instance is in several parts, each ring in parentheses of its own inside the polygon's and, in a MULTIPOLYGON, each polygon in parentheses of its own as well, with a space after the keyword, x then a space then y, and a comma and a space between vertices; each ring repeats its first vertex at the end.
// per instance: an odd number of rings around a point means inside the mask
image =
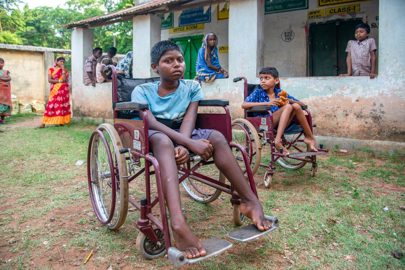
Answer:
POLYGON ((196 76, 198 49, 200 49, 201 44, 203 43, 203 37, 203 35, 200 35, 172 39, 173 42, 180 46, 184 53, 184 79, 194 79, 196 76))

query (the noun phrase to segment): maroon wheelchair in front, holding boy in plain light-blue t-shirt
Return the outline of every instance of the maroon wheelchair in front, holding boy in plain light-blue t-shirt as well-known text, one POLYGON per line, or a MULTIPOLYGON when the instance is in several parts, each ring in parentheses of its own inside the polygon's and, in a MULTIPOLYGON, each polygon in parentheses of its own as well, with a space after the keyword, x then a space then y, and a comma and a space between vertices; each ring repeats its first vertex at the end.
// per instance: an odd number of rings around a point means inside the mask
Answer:
MULTIPOLYGON (((98 220, 110 229, 117 230, 126 220, 128 203, 132 204, 140 211, 140 217, 135 223, 140 230, 136 239, 136 248, 139 253, 153 259, 167 252, 169 261, 176 266, 207 259, 232 247, 230 242, 223 239, 206 239, 202 244, 207 255, 195 259, 186 258, 181 251, 172 247, 173 236, 168 225, 159 164, 153 157, 153 153, 149 152, 147 117, 149 105, 146 102, 131 102, 132 90, 137 85, 157 81, 159 78, 117 77, 114 66, 106 66, 104 70, 111 70, 113 74, 114 124, 104 123, 94 130, 87 152, 89 191, 98 220), (137 114, 142 115, 143 120, 134 120, 137 114), (142 189, 137 192, 142 196, 139 196, 137 201, 130 196, 128 183, 140 178, 141 174, 145 175, 145 179, 141 179, 142 189), (151 181, 153 178, 156 179, 156 183, 151 181), (156 185, 157 195, 152 194, 152 185, 156 185)), ((227 100, 222 99, 200 100, 199 106, 220 106, 224 113, 199 113, 196 128, 215 129, 225 136, 229 147, 239 149, 248 168, 247 179, 257 196, 248 155, 241 145, 232 142, 228 103, 227 100)), ((226 184, 225 177, 216 169, 212 158, 203 161, 199 156, 190 154, 188 162, 178 166, 178 172, 179 183, 194 200, 209 203, 217 199, 221 192, 230 194, 234 224, 243 224, 245 217, 239 210, 241 203, 239 195, 232 186, 226 184)), ((271 223, 271 228, 267 231, 259 231, 255 225, 251 224, 234 230, 226 236, 244 242, 275 230, 278 226, 277 218, 271 216, 265 216, 265 218, 271 223)))

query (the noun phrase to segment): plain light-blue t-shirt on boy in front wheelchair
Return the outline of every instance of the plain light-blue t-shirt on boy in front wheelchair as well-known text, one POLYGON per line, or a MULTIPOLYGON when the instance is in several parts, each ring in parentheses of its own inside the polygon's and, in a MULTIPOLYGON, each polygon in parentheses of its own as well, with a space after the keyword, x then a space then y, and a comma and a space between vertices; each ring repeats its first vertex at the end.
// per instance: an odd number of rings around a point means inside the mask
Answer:
POLYGON ((194 80, 180 79, 176 91, 164 98, 158 95, 159 83, 156 81, 138 85, 131 94, 132 101, 147 102, 156 118, 181 120, 191 102, 205 98, 200 84, 194 80))

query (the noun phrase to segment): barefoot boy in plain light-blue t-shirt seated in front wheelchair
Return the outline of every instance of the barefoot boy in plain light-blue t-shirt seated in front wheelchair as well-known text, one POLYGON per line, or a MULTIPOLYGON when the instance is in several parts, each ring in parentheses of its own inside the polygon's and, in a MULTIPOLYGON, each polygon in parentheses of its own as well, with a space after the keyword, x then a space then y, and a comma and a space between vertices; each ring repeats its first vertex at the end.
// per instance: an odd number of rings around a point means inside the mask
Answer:
POLYGON ((204 98, 204 94, 198 82, 180 79, 185 70, 183 51, 176 43, 162 40, 153 45, 151 62, 160 81, 135 87, 131 100, 149 103, 149 147, 159 162, 164 197, 178 249, 190 259, 206 254, 181 210, 177 165, 188 160, 188 149, 204 160, 214 158, 217 168, 241 198, 241 213, 252 219, 259 230, 268 230, 270 223, 264 219, 262 205, 250 189, 225 137, 216 130, 194 129, 198 101, 204 98), (173 128, 179 128, 178 131, 164 124, 170 125, 173 120, 173 128), (174 147, 173 143, 177 146, 174 147))

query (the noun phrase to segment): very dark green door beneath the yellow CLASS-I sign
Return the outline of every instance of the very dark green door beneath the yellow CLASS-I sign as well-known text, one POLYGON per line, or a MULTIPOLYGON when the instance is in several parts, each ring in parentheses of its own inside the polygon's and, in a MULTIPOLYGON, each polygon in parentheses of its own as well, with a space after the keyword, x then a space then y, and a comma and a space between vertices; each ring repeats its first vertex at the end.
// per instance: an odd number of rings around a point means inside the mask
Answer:
POLYGON ((347 42, 362 21, 336 21, 309 26, 309 76, 337 76, 347 72, 347 42))

